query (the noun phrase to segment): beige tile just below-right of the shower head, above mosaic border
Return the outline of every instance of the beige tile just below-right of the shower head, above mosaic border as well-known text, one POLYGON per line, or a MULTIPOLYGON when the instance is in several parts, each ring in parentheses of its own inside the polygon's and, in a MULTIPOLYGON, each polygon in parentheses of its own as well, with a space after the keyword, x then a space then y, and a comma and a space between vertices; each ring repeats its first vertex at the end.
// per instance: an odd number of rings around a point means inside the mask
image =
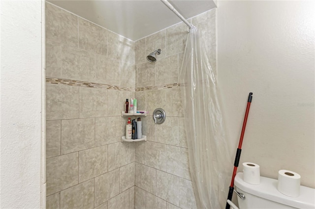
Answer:
POLYGON ((178 55, 174 54, 160 58, 156 62, 157 85, 165 85, 178 82, 178 55))

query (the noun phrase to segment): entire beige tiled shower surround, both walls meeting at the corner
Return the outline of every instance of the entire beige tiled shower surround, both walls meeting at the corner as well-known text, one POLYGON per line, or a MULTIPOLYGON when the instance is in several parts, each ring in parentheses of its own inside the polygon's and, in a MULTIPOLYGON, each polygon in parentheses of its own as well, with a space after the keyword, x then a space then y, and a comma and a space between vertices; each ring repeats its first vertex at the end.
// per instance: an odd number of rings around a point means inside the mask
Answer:
MULTIPOLYGON (((215 19, 211 10, 189 21, 216 74, 215 19)), ((133 42, 46 2, 47 208, 196 207, 179 81, 186 37, 178 24, 133 42), (132 97, 149 111, 147 142, 120 142, 132 97)))

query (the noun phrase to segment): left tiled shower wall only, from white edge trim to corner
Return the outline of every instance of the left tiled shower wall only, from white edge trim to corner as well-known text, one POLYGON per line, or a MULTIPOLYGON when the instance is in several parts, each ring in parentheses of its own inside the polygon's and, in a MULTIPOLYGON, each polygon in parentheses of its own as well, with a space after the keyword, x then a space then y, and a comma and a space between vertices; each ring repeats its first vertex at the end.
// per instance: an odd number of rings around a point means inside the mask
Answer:
POLYGON ((134 43, 46 2, 47 208, 134 207, 134 43))

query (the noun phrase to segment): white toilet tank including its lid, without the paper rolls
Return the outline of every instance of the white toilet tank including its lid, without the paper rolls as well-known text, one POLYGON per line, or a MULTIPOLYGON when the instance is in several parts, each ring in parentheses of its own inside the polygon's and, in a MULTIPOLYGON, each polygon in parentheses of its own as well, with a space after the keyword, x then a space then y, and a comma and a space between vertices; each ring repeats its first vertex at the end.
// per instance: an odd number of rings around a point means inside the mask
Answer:
POLYGON ((315 209, 315 189, 301 186, 299 197, 289 197, 277 189, 276 179, 260 177, 260 184, 243 181, 243 173, 237 173, 234 188, 243 193, 245 199, 237 196, 240 209, 315 209))

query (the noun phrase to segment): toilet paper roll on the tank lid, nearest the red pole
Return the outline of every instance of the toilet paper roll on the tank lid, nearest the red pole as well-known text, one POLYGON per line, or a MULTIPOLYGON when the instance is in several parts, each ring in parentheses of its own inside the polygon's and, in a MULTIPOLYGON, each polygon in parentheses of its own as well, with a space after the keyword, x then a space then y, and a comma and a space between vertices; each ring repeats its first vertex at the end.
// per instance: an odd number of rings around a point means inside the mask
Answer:
POLYGON ((252 162, 244 162, 243 181, 250 184, 259 184, 260 183, 259 165, 252 162))

